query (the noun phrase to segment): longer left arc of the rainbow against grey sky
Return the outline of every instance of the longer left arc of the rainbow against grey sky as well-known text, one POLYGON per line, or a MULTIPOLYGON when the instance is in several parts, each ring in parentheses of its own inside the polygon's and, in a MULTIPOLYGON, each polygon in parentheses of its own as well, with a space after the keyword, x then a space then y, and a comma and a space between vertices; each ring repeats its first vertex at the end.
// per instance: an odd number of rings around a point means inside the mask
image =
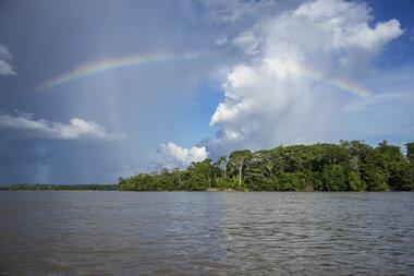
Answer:
POLYGON ((48 89, 61 84, 70 83, 72 81, 83 79, 99 72, 114 70, 119 68, 136 67, 144 63, 157 62, 157 61, 170 61, 176 59, 194 59, 197 53, 187 53, 182 56, 171 55, 171 53, 154 53, 154 55, 134 55, 113 59, 102 59, 94 61, 87 64, 80 65, 73 70, 57 75, 37 86, 37 89, 48 89))

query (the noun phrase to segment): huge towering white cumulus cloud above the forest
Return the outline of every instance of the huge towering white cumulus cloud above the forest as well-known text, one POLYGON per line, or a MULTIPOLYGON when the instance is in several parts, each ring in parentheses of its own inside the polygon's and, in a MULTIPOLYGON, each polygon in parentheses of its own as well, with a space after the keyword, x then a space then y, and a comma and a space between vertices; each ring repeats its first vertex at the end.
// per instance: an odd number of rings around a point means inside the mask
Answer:
POLYGON ((244 58, 228 74, 226 98, 211 117, 220 129, 217 144, 263 148, 327 140, 336 115, 355 97, 332 81, 362 80, 402 33, 397 20, 373 24, 366 4, 342 0, 307 2, 257 22, 233 39, 244 58))

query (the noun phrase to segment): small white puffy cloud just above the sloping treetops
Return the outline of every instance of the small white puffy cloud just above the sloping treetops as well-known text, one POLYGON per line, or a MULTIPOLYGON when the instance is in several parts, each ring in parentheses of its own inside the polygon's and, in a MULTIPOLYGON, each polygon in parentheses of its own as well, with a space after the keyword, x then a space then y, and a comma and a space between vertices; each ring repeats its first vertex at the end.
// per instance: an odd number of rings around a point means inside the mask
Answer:
POLYGON ((172 142, 161 144, 160 153, 162 155, 163 166, 167 168, 186 167, 193 161, 203 161, 208 157, 205 146, 185 148, 172 142))

